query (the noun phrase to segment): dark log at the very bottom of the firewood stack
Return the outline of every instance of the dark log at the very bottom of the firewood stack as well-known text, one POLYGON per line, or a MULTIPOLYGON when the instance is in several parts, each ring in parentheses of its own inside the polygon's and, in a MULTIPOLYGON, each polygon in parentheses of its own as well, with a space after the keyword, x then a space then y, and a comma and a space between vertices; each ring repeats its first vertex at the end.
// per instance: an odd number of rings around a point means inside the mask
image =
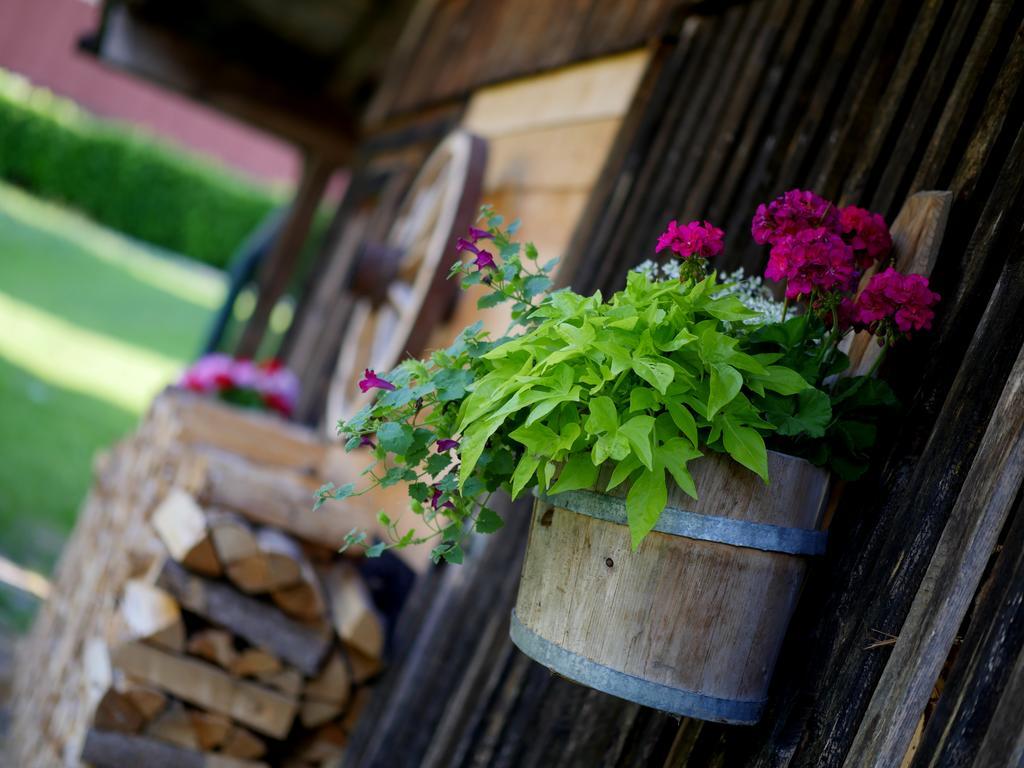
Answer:
POLYGON ((154 738, 92 729, 85 738, 82 761, 93 768, 267 768, 266 763, 228 755, 211 755, 172 746, 154 738))

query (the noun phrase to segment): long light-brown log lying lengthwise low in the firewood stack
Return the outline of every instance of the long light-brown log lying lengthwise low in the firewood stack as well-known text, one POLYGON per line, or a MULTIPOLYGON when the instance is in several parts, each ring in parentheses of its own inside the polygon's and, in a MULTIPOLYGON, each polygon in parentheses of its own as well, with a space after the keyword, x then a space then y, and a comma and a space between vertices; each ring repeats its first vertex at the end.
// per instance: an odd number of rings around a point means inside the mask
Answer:
POLYGON ((172 655, 141 643, 116 648, 112 660, 126 673, 178 698, 227 715, 274 738, 288 735, 295 720, 295 699, 238 680, 205 662, 172 655))

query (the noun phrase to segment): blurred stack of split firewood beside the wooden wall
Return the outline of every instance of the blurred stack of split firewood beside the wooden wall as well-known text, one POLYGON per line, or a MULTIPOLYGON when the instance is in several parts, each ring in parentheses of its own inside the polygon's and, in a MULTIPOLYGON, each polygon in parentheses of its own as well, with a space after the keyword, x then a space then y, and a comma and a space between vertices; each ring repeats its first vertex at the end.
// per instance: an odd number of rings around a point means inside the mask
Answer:
POLYGON ((329 454, 280 420, 162 396, 97 468, 22 652, 17 764, 340 760, 385 631, 336 551, 367 515, 311 509, 329 454))

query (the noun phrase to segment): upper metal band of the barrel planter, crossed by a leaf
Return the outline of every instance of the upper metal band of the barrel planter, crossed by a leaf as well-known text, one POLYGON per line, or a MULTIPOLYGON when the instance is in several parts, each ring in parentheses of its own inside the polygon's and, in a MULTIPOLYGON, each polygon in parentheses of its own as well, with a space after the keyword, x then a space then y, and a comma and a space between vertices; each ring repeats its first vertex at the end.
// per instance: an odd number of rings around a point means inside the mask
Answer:
MULTIPOLYGON (((548 504, 568 509, 598 520, 626 525, 626 501, 616 496, 593 490, 566 490, 562 494, 537 497, 548 504)), ((824 554, 828 535, 823 530, 788 528, 766 522, 736 520, 718 515, 702 515, 676 507, 666 507, 654 523, 654 530, 686 539, 730 544, 765 552, 784 552, 790 555, 824 554)))

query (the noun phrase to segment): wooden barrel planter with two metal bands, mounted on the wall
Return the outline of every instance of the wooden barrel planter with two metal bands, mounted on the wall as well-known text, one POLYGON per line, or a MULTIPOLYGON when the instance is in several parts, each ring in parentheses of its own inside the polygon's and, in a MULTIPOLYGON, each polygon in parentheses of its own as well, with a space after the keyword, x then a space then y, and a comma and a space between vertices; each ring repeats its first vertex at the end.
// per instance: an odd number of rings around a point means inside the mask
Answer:
POLYGON ((718 455, 690 468, 700 500, 672 485, 637 552, 625 492, 539 499, 511 636, 526 655, 592 688, 753 724, 807 558, 824 552, 828 475, 771 452, 769 485, 718 455))

